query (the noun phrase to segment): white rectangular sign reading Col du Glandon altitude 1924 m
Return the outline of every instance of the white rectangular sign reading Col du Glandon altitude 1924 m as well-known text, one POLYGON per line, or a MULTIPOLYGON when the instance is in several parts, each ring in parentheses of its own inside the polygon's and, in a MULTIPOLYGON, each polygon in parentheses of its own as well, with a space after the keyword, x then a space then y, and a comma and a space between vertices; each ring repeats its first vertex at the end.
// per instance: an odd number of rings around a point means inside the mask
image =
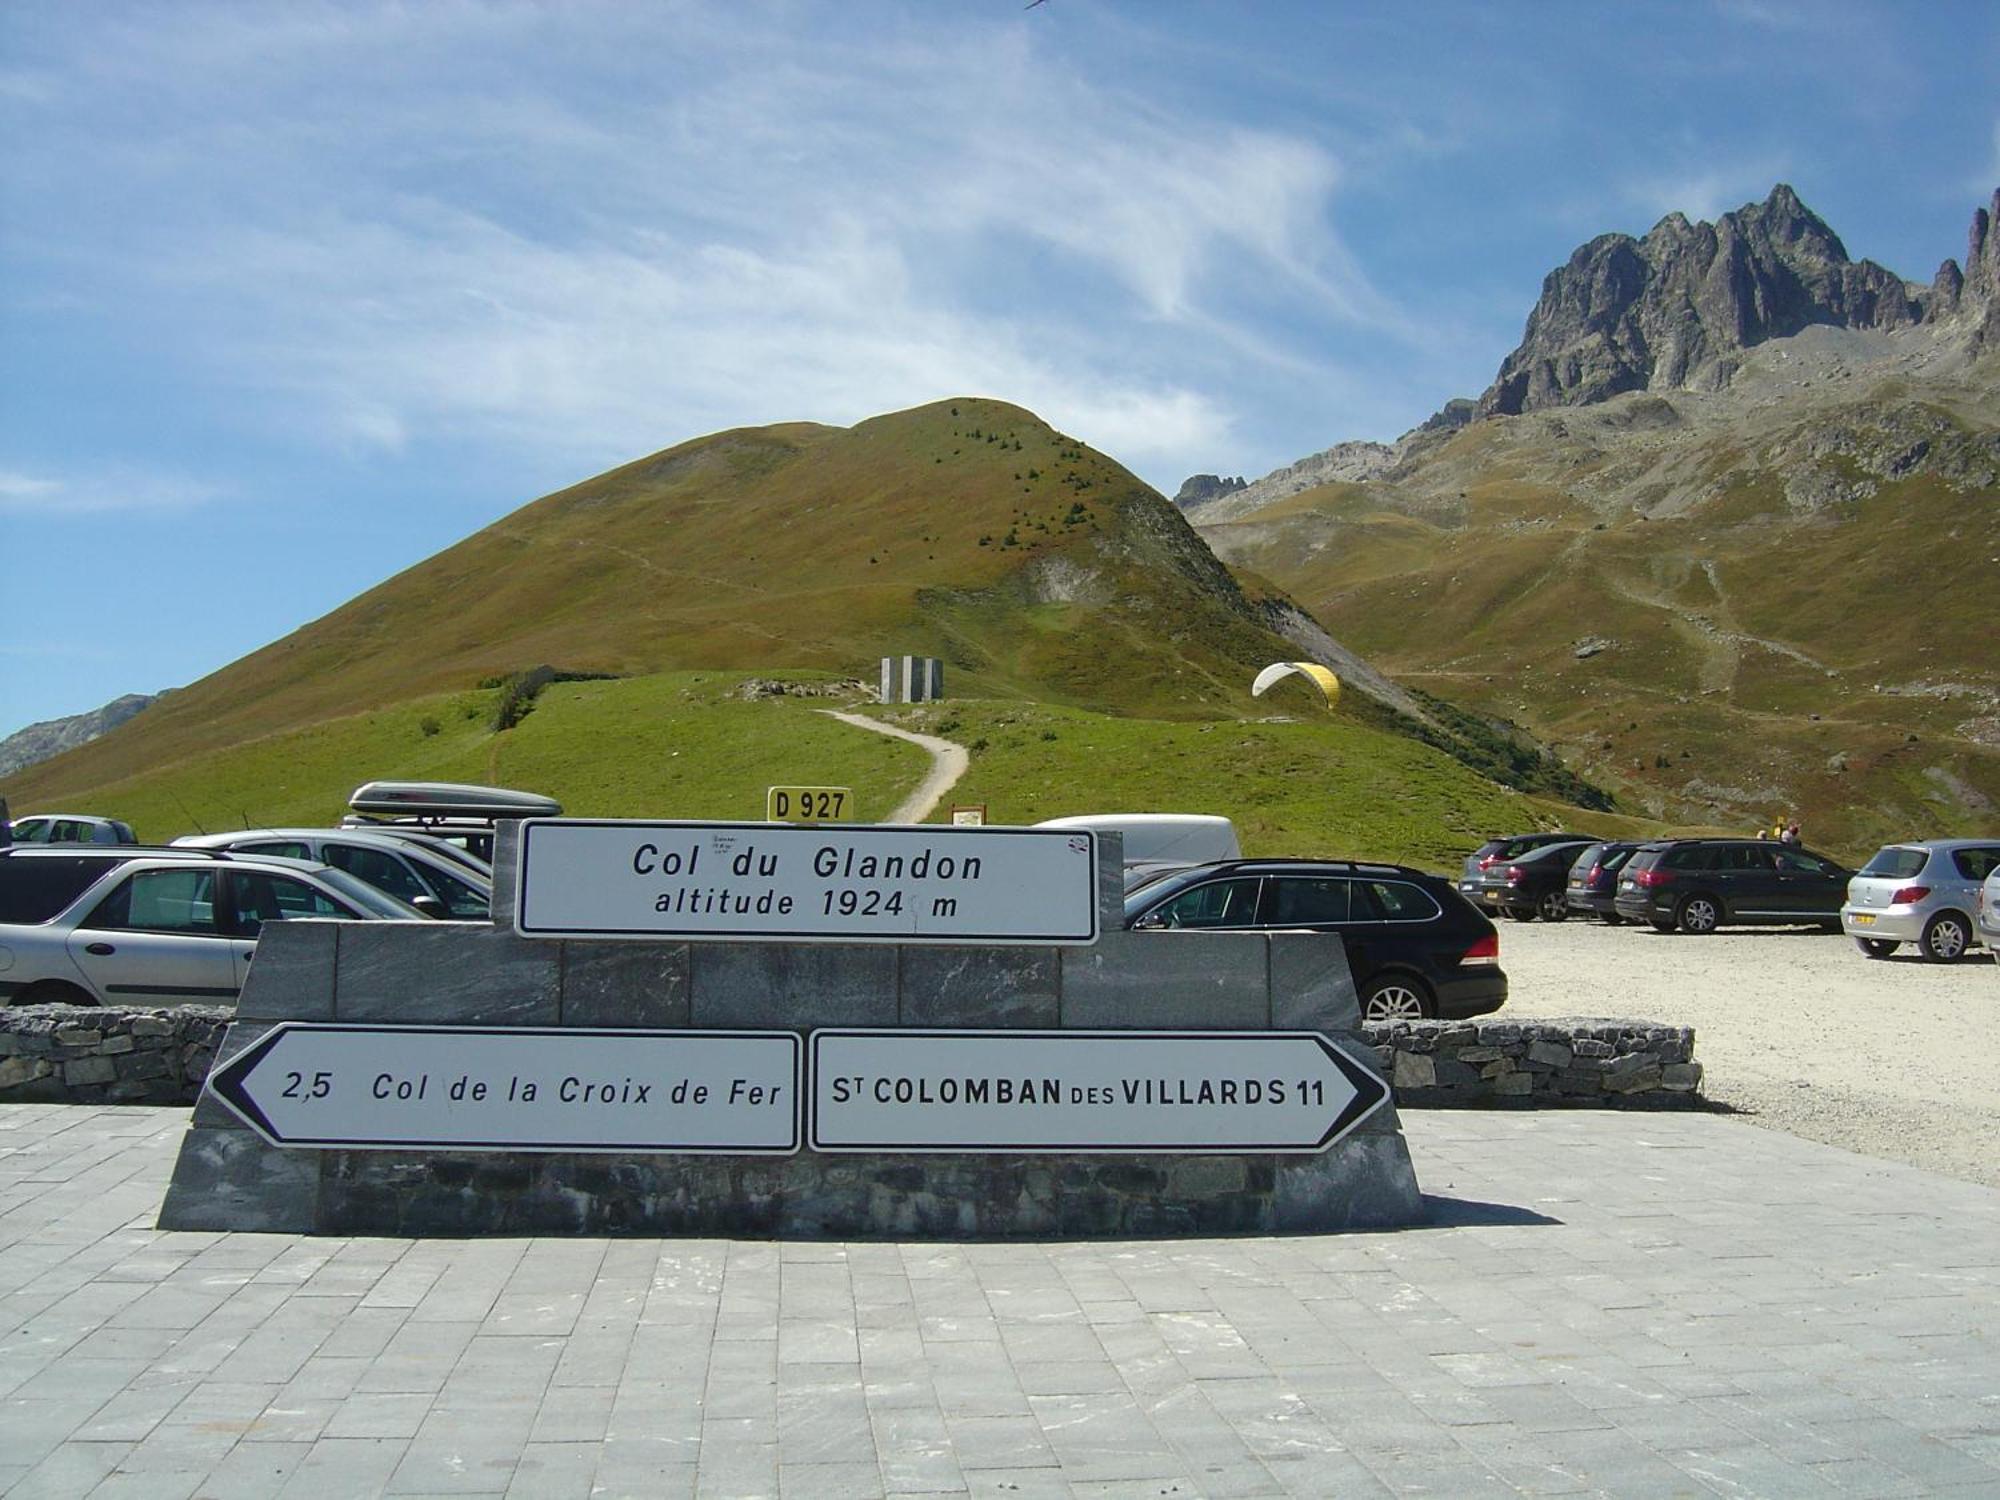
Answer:
POLYGON ((530 818, 514 922, 530 938, 1090 944, 1096 836, 530 818))

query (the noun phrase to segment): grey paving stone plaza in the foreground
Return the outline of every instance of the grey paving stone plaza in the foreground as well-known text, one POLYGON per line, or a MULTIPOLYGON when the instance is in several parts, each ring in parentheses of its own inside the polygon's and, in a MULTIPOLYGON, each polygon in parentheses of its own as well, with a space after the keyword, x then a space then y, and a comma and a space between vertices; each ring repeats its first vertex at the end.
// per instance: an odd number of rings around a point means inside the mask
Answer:
POLYGON ((2000 1194, 1720 1116, 1408 1110, 1426 1228, 972 1244, 162 1234, 186 1120, 0 1108, 0 1494, 2000 1494, 2000 1194))

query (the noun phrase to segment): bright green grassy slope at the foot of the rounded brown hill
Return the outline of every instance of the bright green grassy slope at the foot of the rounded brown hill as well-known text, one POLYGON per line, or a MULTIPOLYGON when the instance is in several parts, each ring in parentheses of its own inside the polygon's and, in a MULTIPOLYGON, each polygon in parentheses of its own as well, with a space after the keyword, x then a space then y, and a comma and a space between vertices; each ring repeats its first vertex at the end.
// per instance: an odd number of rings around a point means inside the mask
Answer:
MULTIPOLYGON (((790 674, 824 686, 820 674, 790 674)), ((246 826, 318 826, 346 810, 360 772, 532 786, 576 816, 762 818, 774 784, 850 786, 856 816, 884 818, 928 756, 818 708, 842 700, 744 698, 736 672, 662 672, 564 682, 510 730, 492 732, 498 690, 434 694, 206 752, 92 788, 142 838, 246 826), (614 752, 608 752, 614 748, 614 752)), ((1162 720, 1030 700, 966 698, 876 710, 886 722, 966 744, 972 768, 950 802, 992 822, 1072 812, 1186 810, 1236 820, 1256 854, 1328 854, 1450 866, 1492 828, 1648 828, 1538 800, 1452 756, 1320 712, 1162 720)))

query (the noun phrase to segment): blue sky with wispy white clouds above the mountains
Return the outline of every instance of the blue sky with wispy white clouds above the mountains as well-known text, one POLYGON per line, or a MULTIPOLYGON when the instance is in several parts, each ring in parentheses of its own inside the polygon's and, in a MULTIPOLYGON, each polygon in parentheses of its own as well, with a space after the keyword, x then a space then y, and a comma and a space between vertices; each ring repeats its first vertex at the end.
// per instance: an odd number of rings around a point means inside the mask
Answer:
POLYGON ((726 426, 1392 438, 1578 242, 1778 180, 1928 282, 2000 6, 14 0, 0 734, 726 426))

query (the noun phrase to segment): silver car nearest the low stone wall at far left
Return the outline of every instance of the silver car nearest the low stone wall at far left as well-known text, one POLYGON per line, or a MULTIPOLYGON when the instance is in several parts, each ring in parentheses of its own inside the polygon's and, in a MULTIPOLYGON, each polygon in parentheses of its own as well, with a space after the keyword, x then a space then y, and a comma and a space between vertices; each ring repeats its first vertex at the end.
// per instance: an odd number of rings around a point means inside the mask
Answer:
POLYGON ((12 848, 0 1000, 234 1004, 266 922, 424 918, 344 870, 214 850, 12 848))

